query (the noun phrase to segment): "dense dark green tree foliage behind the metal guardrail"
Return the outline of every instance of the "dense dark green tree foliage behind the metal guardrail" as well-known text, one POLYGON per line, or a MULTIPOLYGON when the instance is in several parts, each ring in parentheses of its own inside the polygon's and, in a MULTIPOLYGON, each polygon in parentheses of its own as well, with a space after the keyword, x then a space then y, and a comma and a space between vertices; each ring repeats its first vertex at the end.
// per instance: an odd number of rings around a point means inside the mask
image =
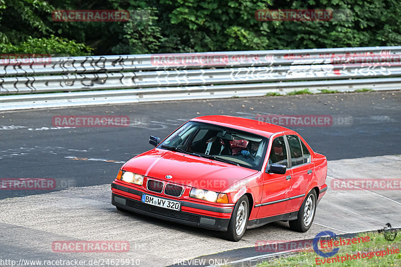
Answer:
POLYGON ((392 46, 401 44, 399 14, 396 0, 0 0, 0 53, 76 56, 392 46), (350 16, 256 20, 255 12, 265 9, 346 10, 350 16), (128 10, 131 18, 55 22, 54 10, 128 10))

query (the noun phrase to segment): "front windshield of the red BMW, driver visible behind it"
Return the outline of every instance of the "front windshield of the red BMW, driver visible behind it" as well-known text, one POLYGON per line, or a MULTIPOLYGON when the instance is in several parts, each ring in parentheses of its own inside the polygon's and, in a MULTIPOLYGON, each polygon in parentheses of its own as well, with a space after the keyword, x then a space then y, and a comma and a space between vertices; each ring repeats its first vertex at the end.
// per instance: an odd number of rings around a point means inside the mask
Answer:
POLYGON ((261 170, 268 138, 218 125, 187 122, 158 148, 177 148, 188 153, 261 170))

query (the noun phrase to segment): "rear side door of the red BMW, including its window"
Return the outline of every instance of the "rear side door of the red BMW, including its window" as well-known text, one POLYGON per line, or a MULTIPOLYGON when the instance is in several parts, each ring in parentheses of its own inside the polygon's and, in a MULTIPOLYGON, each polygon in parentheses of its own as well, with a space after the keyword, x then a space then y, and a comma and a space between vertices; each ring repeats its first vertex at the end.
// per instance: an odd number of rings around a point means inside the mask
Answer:
POLYGON ((307 193, 308 184, 313 177, 314 165, 311 162, 311 155, 296 134, 285 136, 288 148, 290 150, 290 169, 292 170, 291 179, 289 179, 290 189, 286 209, 288 212, 299 210, 307 193))

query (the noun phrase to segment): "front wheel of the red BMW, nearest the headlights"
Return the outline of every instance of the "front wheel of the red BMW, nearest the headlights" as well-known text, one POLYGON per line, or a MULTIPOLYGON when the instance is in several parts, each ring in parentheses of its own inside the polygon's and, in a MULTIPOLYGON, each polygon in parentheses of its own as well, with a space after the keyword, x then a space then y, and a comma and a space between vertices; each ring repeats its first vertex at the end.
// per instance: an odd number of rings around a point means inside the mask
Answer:
POLYGON ((243 195, 234 206, 227 232, 223 233, 223 237, 234 242, 240 241, 247 229, 248 217, 249 200, 243 195))

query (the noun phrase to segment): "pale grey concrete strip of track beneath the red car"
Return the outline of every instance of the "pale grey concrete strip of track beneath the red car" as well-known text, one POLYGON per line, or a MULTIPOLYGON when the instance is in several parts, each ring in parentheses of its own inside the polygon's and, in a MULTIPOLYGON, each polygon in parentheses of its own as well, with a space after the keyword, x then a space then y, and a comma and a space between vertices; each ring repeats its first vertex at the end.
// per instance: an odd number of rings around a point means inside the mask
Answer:
MULTIPOLYGON (((378 230, 387 222, 393 228, 400 227, 399 188, 355 191, 335 190, 331 186, 332 181, 344 178, 380 177, 400 181, 397 168, 400 164, 400 155, 329 161, 329 189, 317 206, 314 222, 307 232, 291 231, 287 222, 273 222, 248 229, 239 242, 221 239, 215 231, 120 212, 110 203, 108 184, 3 199, 0 200, 0 259, 16 262, 76 259, 86 260, 85 266, 96 265, 90 264, 90 260, 104 260, 101 262, 105 266, 115 266, 117 259, 129 259, 130 265, 156 267, 174 263, 199 267, 229 262, 229 265, 237 262, 235 264, 254 266, 256 260, 287 249, 280 245, 278 251, 256 247, 266 242, 276 244, 310 239, 321 231, 340 235, 378 230), (356 165, 360 167, 356 169, 356 165), (129 242, 130 248, 126 252, 93 253, 53 250, 53 242, 70 240, 122 240, 129 242), (196 257, 198 261, 191 260, 196 257), (242 261, 244 258, 246 262, 242 261), (108 264, 107 259, 110 260, 108 264), (199 264, 204 259, 204 264, 199 264)), ((401 236, 397 235, 393 243, 399 247, 401 236)), ((343 249, 347 248, 341 247, 341 251, 343 249)))

